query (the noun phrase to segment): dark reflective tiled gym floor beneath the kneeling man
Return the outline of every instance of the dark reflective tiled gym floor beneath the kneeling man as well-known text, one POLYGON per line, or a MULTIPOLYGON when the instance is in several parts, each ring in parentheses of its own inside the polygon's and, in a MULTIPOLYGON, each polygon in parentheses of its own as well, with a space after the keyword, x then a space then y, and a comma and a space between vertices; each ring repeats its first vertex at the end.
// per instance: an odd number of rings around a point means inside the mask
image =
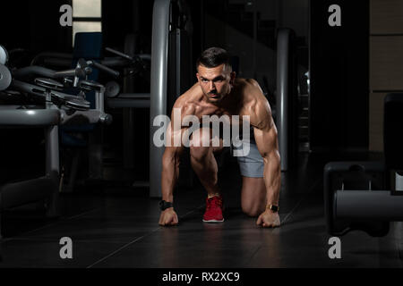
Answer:
POLYGON ((219 174, 225 223, 201 222, 205 193, 198 182, 176 192, 176 227, 159 227, 159 199, 148 198, 147 189, 61 194, 62 216, 53 220, 40 209, 6 211, 0 267, 401 267, 401 223, 391 223, 383 238, 350 232, 341 237, 341 259, 329 258, 322 170, 332 159, 305 154, 295 170, 283 172, 276 229, 257 227, 242 213, 232 161, 219 174), (59 257, 63 237, 73 240, 73 259, 59 257))

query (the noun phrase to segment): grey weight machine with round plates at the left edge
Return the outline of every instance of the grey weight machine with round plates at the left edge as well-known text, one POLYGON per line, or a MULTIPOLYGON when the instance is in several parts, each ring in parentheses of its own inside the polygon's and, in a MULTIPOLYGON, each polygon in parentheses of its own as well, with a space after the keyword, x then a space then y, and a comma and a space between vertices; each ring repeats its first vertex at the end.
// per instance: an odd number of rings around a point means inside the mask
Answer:
MULTIPOLYGON (((6 61, 2 60, 2 63, 6 61)), ((33 99, 30 100, 30 105, 0 105, 0 128, 43 128, 46 143, 45 174, 39 178, 9 182, 0 186, 0 211, 43 201, 47 216, 58 216, 59 126, 112 121, 111 116, 104 111, 105 88, 95 81, 85 79, 91 71, 91 65, 92 62, 81 59, 75 69, 67 71, 53 71, 39 66, 9 71, 4 64, 0 64, 0 92, 9 97, 14 97, 18 92, 33 99), (12 77, 11 80, 8 80, 9 76, 12 77), (6 82, 10 84, 3 82, 5 77, 6 82), (63 83, 57 80, 63 80, 63 83), (80 94, 63 93, 63 89, 69 84, 80 88, 80 94), (90 109, 90 102, 85 100, 84 91, 95 91, 94 109, 90 109), (32 105, 32 102, 36 105, 32 105)), ((104 66, 98 67, 104 71, 113 71, 104 66)))

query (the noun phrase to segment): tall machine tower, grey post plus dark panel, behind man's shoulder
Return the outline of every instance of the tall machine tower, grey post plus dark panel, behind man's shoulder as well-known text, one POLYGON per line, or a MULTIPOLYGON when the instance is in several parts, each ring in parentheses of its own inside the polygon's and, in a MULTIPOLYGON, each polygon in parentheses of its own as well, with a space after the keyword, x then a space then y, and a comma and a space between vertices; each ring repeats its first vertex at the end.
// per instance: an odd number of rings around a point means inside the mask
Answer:
MULTIPOLYGON (((193 74, 189 47, 192 21, 183 1, 156 0, 152 15, 151 87, 150 87, 150 142, 159 126, 154 118, 169 114, 176 97, 191 87, 193 74), (176 10, 177 9, 177 10, 176 10), (173 14, 176 13, 176 17, 173 14), (174 42, 175 41, 175 45, 174 42), (187 46, 186 49, 181 46, 187 46), (191 67, 191 70, 186 69, 191 67), (171 76, 168 77, 168 74, 171 76)), ((150 197, 161 196, 163 147, 150 144, 150 197)))

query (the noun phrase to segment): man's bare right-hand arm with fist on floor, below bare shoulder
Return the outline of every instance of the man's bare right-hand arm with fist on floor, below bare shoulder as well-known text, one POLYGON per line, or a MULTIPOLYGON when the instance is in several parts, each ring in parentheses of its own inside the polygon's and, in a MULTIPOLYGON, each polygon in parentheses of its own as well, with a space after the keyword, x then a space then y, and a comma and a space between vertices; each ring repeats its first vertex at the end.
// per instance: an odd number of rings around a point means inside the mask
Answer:
POLYGON ((279 213, 269 206, 279 206, 279 189, 281 186, 281 167, 277 128, 271 117, 270 105, 266 98, 255 105, 251 116, 254 139, 264 162, 263 180, 266 186, 266 209, 259 216, 257 224, 263 227, 279 226, 279 213))

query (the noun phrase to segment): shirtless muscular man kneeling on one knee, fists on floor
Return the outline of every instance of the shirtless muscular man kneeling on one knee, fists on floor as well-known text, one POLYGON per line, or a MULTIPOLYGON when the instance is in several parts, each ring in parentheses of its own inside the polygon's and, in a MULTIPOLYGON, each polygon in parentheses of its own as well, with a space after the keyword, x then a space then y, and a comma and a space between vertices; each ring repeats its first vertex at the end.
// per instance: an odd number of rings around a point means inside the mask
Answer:
MULTIPOLYGON (((237 79, 232 71, 227 51, 210 47, 201 53, 197 63, 198 82, 178 97, 174 110, 181 112, 181 128, 174 130, 174 114, 167 134, 171 142, 177 132, 183 135, 188 126, 182 120, 186 115, 201 118, 203 115, 249 115, 253 135, 249 142, 250 150, 246 156, 239 156, 238 163, 242 175, 242 210, 244 214, 258 216, 257 224, 263 227, 276 227, 279 220, 280 156, 277 128, 271 117, 271 109, 262 89, 256 80, 237 79)), ((198 136, 191 139, 203 140, 210 130, 202 127, 198 136)), ((196 131, 198 132, 198 131, 196 131)), ((209 137, 210 138, 210 137, 209 137)), ((162 201, 159 224, 168 226, 178 223, 174 210, 173 190, 179 176, 179 159, 183 144, 166 147, 162 158, 162 201)), ((224 222, 223 200, 218 186, 218 164, 214 157, 222 150, 219 146, 194 144, 190 146, 191 164, 207 191, 205 223, 224 222)))

